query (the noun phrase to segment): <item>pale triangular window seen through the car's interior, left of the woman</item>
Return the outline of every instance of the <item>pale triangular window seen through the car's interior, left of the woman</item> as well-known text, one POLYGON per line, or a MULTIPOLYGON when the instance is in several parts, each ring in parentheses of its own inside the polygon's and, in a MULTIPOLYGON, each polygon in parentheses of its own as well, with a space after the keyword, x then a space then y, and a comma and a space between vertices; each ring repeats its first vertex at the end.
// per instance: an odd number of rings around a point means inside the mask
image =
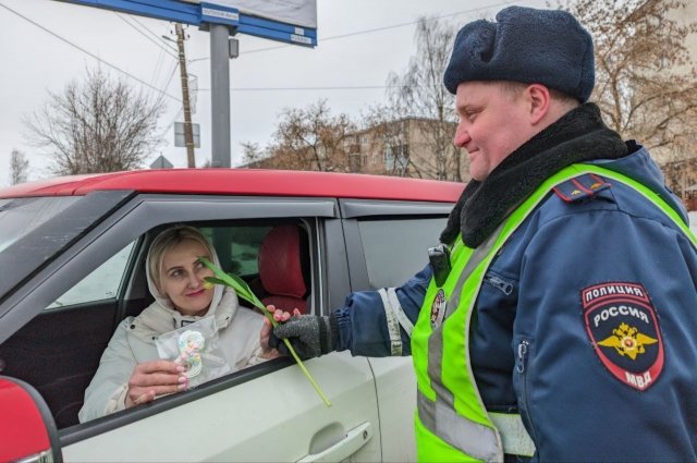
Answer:
POLYGON ((95 271, 68 290, 46 309, 115 297, 134 244, 135 242, 129 244, 109 260, 97 267, 95 271))

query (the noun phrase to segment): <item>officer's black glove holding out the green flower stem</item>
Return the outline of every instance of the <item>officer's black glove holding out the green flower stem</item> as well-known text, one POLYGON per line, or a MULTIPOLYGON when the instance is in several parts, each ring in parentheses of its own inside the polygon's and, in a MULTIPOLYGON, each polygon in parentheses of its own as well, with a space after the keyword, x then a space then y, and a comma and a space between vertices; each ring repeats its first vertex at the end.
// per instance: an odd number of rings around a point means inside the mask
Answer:
POLYGON ((321 315, 296 315, 273 328, 269 346, 281 355, 290 355, 282 339, 288 339, 301 360, 319 357, 337 349, 337 318, 321 315))

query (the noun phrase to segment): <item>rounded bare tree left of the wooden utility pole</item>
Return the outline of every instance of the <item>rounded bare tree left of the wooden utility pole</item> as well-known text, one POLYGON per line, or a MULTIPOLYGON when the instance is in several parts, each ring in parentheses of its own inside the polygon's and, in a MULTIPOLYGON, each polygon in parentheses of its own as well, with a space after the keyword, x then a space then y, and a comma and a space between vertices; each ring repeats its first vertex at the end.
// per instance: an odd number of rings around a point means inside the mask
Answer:
POLYGON ((101 69, 87 71, 62 93, 50 93, 25 121, 30 142, 52 158, 56 174, 113 172, 142 167, 161 138, 161 98, 151 100, 101 69))

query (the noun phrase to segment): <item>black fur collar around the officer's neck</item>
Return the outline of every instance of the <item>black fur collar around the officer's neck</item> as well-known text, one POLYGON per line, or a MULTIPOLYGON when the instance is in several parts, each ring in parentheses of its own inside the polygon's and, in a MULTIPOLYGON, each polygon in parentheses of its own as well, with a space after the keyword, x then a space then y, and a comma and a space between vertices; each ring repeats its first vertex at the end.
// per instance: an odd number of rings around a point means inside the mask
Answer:
POLYGON ((450 212, 440 241, 462 233, 479 246, 549 176, 576 162, 616 159, 627 154, 620 135, 608 129, 594 103, 564 114, 503 160, 482 182, 470 181, 450 212))

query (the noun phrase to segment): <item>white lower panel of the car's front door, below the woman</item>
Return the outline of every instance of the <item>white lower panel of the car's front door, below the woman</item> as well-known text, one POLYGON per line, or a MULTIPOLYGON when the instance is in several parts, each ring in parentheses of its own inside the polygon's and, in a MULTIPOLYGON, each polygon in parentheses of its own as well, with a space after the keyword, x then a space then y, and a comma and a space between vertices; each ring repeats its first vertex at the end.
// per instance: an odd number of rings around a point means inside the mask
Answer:
MULTIPOLYGON (((297 461, 337 443, 364 423, 379 427, 366 358, 333 353, 306 365, 329 397, 330 407, 299 367, 292 365, 72 443, 63 448, 63 458, 91 462, 297 461)), ((379 439, 374 437, 358 452, 358 461, 380 461, 379 439)))

